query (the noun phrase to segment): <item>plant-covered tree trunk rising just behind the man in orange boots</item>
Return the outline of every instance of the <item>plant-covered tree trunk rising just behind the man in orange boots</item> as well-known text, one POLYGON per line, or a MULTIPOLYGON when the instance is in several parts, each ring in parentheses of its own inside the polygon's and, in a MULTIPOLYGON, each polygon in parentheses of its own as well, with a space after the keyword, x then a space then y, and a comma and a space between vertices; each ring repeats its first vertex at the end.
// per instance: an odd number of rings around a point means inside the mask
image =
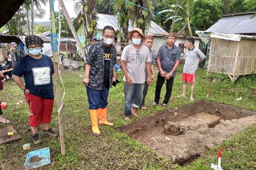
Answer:
POLYGON ((87 56, 90 38, 96 33, 97 28, 97 2, 98 0, 83 0, 83 19, 84 19, 84 32, 85 32, 85 55, 87 56))

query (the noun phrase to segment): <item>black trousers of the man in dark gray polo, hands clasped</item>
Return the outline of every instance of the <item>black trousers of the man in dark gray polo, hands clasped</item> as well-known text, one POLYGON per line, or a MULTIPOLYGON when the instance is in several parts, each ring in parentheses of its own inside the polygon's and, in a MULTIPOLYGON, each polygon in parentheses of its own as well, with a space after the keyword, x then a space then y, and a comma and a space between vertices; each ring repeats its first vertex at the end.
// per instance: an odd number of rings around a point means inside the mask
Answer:
MULTIPOLYGON (((163 100, 163 104, 168 104, 169 102, 169 99, 172 94, 173 80, 174 80, 174 77, 171 77, 169 80, 166 80, 166 94, 165 94, 165 100, 163 100)), ((156 81, 156 92, 155 92, 155 103, 157 104, 159 104, 161 89, 164 82, 165 82, 165 78, 161 77, 160 73, 158 73, 157 81, 156 81)))

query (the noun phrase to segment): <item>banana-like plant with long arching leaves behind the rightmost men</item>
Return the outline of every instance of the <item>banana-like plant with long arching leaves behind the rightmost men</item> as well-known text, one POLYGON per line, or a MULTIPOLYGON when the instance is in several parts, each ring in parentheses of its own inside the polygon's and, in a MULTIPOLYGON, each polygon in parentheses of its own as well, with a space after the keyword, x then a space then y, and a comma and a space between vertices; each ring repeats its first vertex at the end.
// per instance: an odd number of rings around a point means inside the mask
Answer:
POLYGON ((169 2, 172 3, 171 7, 173 9, 160 11, 159 14, 164 12, 173 12, 175 15, 167 18, 164 22, 167 22, 168 20, 173 20, 174 24, 175 21, 185 20, 185 26, 182 28, 182 31, 184 32, 186 26, 188 26, 189 36, 192 36, 192 31, 190 28, 190 14, 192 13, 194 0, 185 0, 181 4, 179 4, 177 0, 169 0, 169 2), (185 2, 186 4, 184 4, 185 2))

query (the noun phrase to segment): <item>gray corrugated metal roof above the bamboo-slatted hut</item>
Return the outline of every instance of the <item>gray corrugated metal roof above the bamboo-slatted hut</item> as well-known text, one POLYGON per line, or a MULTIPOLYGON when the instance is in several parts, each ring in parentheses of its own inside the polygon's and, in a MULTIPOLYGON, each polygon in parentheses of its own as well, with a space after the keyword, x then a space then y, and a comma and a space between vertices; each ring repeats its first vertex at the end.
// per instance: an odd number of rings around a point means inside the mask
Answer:
POLYGON ((230 16, 219 19, 206 32, 219 33, 256 33, 256 17, 253 15, 230 16))

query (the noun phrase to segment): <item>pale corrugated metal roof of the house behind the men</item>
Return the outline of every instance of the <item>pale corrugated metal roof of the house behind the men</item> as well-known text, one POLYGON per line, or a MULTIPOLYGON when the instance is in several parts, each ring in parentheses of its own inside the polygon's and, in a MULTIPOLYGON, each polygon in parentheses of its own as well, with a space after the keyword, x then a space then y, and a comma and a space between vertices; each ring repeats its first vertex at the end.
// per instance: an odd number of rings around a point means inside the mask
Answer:
MULTIPOLYGON (((117 16, 107 15, 107 14, 97 14, 99 19, 97 20, 97 29, 103 30, 105 26, 112 26, 115 30, 119 31, 119 26, 117 24, 117 16)), ((151 28, 148 29, 147 33, 157 36, 167 35, 168 33, 159 27, 154 21, 150 21, 151 28)), ((129 21, 128 31, 130 32, 134 27, 131 26, 129 21)))

